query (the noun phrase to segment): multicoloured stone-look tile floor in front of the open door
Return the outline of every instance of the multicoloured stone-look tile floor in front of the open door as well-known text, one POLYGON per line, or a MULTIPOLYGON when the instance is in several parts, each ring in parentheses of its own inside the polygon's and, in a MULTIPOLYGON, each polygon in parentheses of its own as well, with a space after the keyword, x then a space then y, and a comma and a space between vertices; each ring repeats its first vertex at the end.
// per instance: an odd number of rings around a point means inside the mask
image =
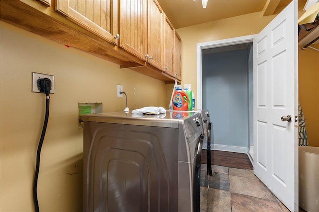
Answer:
POLYGON ((201 166, 201 212, 289 212, 253 170, 212 165, 201 166))

